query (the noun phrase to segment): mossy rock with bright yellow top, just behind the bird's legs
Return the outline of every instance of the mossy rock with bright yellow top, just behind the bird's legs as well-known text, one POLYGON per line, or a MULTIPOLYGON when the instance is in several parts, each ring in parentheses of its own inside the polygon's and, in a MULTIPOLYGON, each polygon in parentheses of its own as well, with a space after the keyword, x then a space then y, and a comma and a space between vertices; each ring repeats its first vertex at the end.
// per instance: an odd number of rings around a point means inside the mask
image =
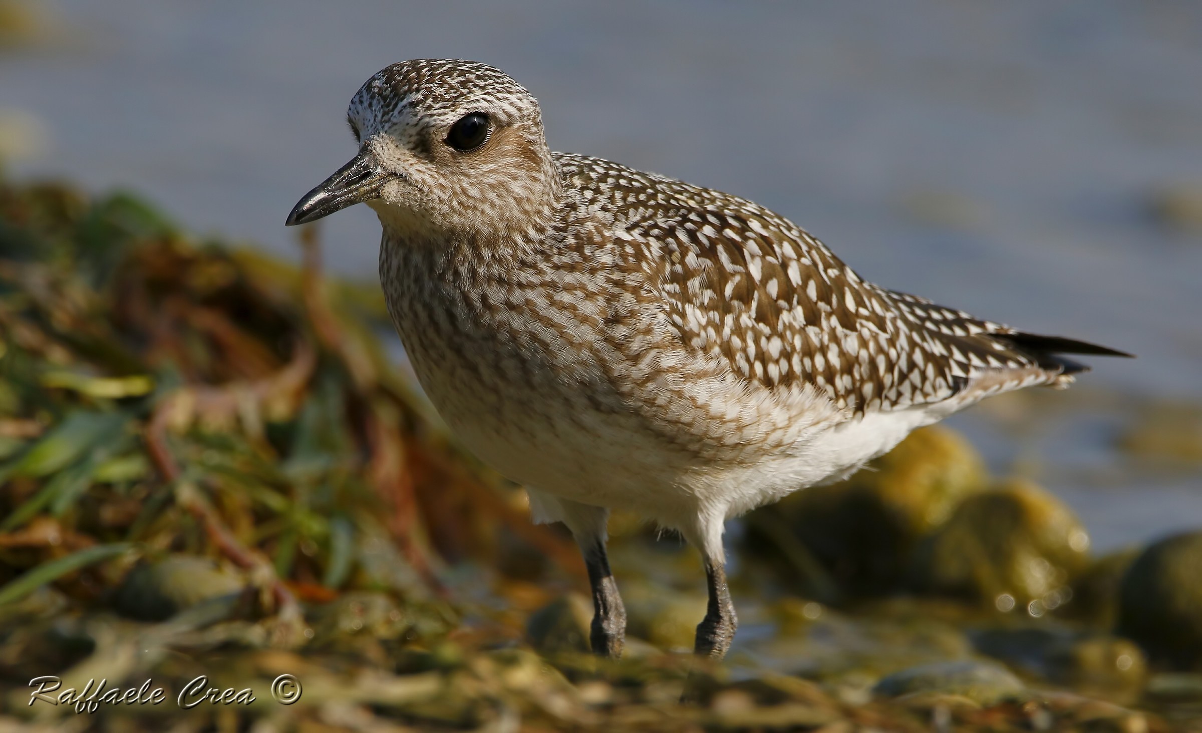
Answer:
POLYGON ((915 430, 851 478, 749 514, 748 548, 820 601, 898 590, 918 540, 982 490, 984 478, 980 454, 959 434, 915 430), (838 588, 823 586, 832 583, 838 588))

